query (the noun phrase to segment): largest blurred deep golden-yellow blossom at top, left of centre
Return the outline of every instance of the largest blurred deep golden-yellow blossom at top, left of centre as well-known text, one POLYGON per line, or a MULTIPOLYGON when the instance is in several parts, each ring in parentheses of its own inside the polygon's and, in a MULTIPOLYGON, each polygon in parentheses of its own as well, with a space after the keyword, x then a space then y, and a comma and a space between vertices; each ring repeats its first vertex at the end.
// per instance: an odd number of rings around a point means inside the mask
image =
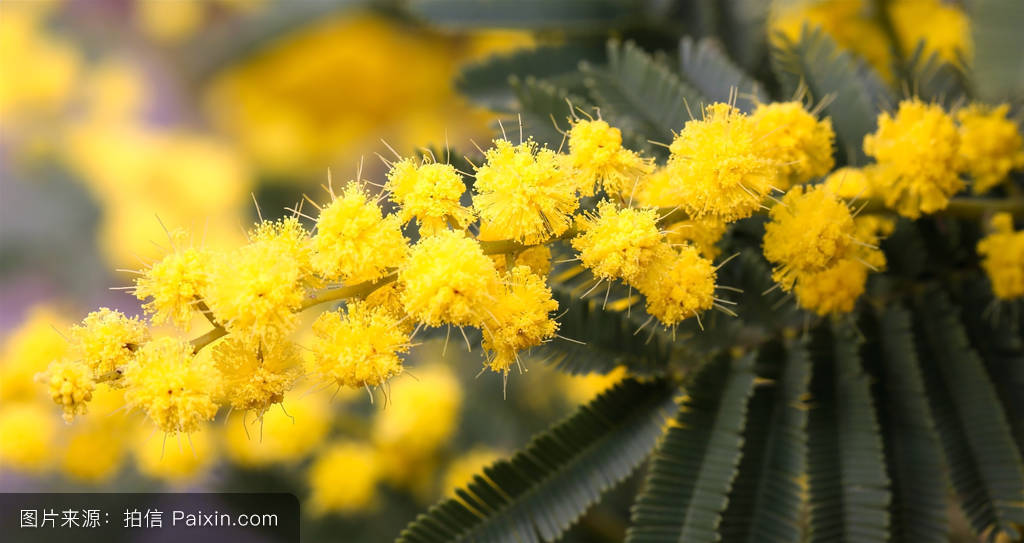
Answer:
POLYGON ((261 168, 292 175, 353 159, 382 136, 411 149, 447 134, 459 149, 486 133, 488 116, 452 88, 457 67, 531 42, 496 36, 467 40, 358 12, 324 17, 218 74, 207 111, 261 168))

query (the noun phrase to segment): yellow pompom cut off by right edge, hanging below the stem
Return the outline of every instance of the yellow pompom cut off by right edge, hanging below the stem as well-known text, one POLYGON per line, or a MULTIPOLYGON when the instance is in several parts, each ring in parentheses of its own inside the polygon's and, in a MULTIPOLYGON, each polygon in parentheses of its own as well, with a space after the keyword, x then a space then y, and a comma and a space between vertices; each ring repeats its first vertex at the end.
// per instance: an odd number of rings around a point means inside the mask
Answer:
POLYGON ((981 267, 996 298, 1020 298, 1024 296, 1024 232, 1014 229, 1014 219, 1008 213, 992 217, 991 231, 978 242, 981 267))

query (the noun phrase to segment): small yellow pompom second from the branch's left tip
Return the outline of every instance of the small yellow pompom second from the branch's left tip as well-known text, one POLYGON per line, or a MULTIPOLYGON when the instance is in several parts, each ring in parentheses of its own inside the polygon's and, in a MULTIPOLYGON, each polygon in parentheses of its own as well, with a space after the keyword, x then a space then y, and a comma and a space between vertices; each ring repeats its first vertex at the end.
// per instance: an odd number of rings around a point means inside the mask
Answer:
POLYGON ((135 350, 150 340, 150 331, 138 318, 100 307, 71 329, 72 350, 94 375, 127 366, 135 350))

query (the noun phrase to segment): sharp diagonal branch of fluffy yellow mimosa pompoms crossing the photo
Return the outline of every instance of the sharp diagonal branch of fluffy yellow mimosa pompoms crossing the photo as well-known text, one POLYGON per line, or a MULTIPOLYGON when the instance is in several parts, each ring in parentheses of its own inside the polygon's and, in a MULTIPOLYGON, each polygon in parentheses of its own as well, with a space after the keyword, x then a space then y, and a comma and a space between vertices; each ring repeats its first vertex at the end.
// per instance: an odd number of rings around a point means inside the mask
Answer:
MULTIPOLYGON (((135 280, 148 322, 90 314, 70 334, 72 354, 42 377, 69 420, 109 386, 169 433, 195 431, 221 408, 262 416, 300 379, 386 389, 424 328, 477 329, 484 366, 507 378, 523 352, 558 337, 555 255, 588 272, 591 291, 617 282, 639 292, 665 327, 700 325, 713 308, 733 315, 716 294, 731 258, 717 245, 730 224, 760 213, 778 287, 819 316, 846 314, 868 273, 885 267, 879 244, 894 224, 891 212, 858 213, 852 202, 916 218, 944 209, 967 179, 976 192, 998 185, 1024 166, 1007 114, 905 100, 863 141, 874 164, 836 171, 829 119, 800 101, 750 114, 712 103, 680 127, 663 164, 624 148, 601 119, 570 120, 564 153, 499 138, 468 195, 468 172, 399 157, 381 191, 329 182, 325 201, 310 199, 313 216, 260 220, 231 251, 171 233, 166 255, 135 280), (313 339, 300 346, 299 314, 314 307, 313 339), (197 316, 212 329, 190 341, 151 328, 186 332, 197 316)), ((1020 296, 1019 235, 1008 217, 995 231, 979 253, 996 294, 1020 296)))

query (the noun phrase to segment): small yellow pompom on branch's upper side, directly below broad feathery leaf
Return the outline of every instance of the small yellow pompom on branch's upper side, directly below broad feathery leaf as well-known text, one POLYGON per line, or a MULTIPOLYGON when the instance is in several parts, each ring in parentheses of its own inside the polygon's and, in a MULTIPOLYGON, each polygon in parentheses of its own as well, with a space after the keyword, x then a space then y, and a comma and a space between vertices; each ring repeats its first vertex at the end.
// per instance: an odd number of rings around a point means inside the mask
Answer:
POLYGON ((623 147, 623 133, 600 119, 572 123, 568 133, 568 165, 580 194, 593 196, 600 184, 608 196, 629 196, 653 163, 623 147))

